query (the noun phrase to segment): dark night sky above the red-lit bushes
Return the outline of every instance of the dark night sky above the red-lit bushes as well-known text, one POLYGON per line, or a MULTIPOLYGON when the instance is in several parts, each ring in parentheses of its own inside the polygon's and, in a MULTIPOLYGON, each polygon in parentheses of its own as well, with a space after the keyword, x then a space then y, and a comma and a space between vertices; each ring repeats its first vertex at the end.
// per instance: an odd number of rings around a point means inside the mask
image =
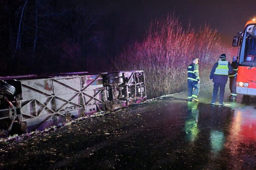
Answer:
POLYGON ((98 0, 93 5, 106 17, 103 27, 113 30, 109 40, 120 46, 142 37, 152 19, 168 12, 174 12, 184 27, 188 21, 195 29, 208 23, 230 45, 246 21, 256 17, 255 0, 98 0))

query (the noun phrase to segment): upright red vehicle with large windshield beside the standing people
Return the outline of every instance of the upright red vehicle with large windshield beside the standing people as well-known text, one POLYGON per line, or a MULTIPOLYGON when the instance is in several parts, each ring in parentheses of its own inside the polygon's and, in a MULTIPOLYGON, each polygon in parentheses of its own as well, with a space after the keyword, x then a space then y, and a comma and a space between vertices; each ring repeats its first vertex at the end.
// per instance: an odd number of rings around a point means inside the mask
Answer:
POLYGON ((237 93, 249 99, 256 96, 256 19, 246 22, 232 46, 238 47, 237 93))

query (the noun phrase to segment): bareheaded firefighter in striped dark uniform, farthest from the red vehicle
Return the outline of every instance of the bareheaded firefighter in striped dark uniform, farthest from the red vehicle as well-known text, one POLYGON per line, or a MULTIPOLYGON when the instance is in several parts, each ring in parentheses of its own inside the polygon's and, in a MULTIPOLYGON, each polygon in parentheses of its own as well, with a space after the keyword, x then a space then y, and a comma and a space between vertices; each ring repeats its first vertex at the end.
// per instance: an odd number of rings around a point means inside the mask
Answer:
POLYGON ((198 61, 198 58, 193 58, 192 63, 188 66, 188 101, 198 102, 200 90, 198 61))

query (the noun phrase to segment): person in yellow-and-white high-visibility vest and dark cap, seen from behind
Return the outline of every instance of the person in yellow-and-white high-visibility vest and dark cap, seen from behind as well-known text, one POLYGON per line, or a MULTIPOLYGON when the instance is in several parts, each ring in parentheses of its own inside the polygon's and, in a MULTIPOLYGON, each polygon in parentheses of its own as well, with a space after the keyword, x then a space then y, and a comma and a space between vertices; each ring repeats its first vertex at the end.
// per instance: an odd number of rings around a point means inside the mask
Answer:
POLYGON ((210 81, 213 79, 213 95, 210 104, 215 105, 217 100, 218 90, 220 89, 220 96, 218 99, 219 106, 223 106, 223 98, 225 92, 225 86, 228 81, 228 73, 233 73, 233 68, 226 60, 226 55, 223 53, 220 55, 220 60, 214 64, 210 73, 210 81))

